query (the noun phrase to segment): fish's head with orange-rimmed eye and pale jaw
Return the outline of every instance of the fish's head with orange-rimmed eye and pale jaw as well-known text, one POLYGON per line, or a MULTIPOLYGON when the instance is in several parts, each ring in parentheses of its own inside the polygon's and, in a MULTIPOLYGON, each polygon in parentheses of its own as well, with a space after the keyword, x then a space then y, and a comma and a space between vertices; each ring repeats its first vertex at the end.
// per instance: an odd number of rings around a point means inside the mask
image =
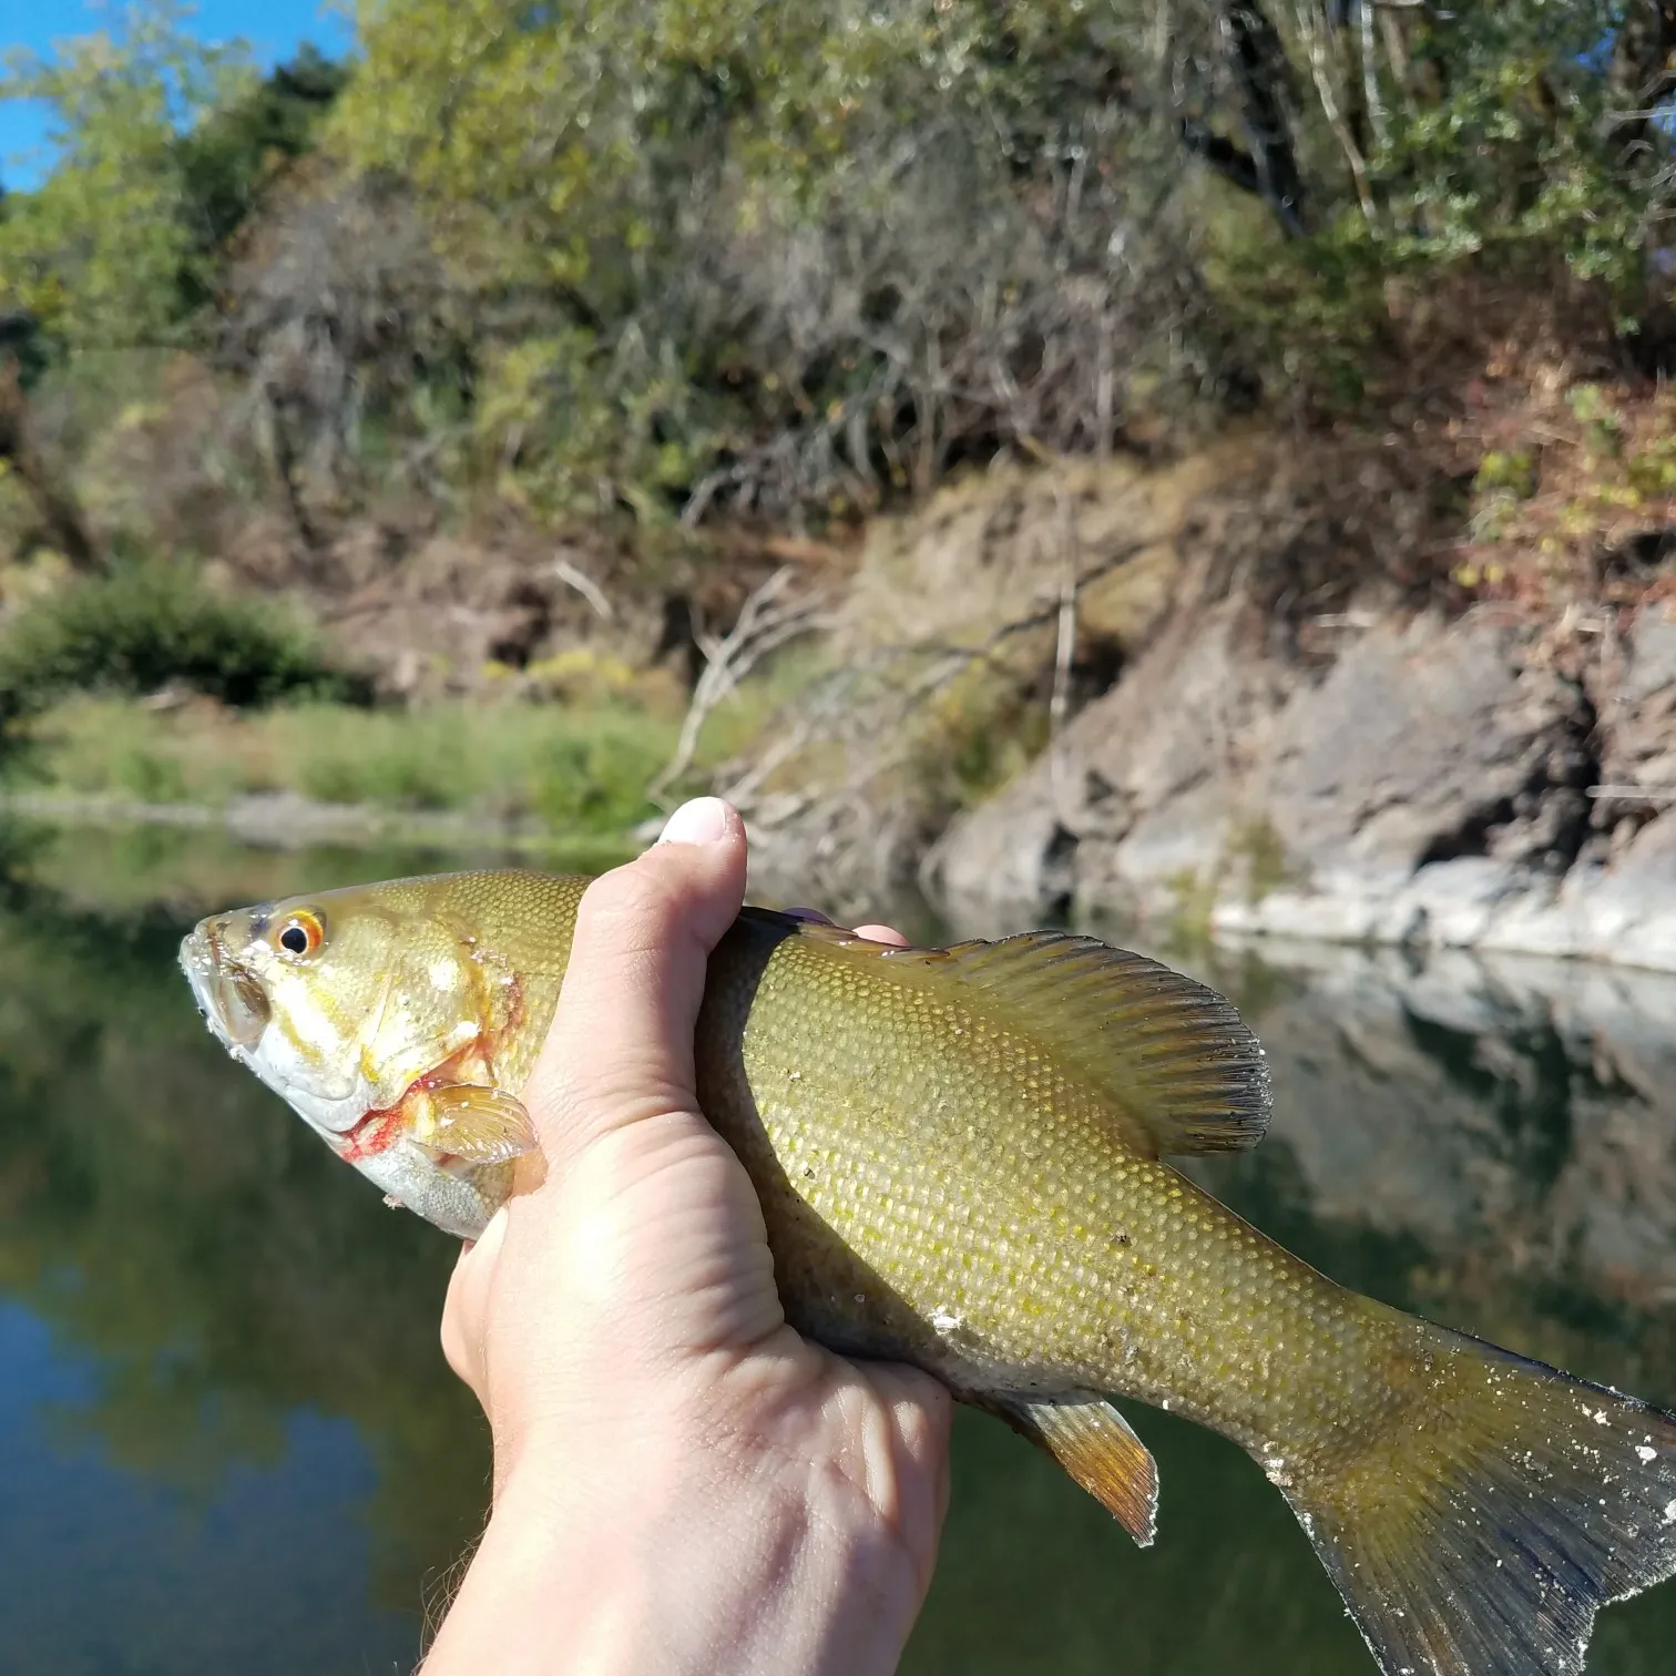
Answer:
POLYGON ((439 1227, 483 1230, 511 1153, 459 1156, 424 1126, 459 1084, 496 1093, 510 979, 468 932, 370 885, 211 915, 181 967, 211 1032, 340 1158, 439 1227))

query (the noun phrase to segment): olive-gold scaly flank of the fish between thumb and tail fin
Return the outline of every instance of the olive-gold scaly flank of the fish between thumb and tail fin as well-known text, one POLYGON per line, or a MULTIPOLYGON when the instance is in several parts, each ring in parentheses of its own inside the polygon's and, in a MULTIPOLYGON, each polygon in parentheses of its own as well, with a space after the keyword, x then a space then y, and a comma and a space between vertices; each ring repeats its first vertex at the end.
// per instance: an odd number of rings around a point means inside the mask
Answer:
POLYGON ((952 980, 818 942, 781 942, 754 982, 741 967, 724 947, 701 1104, 764 1202, 794 1324, 974 1393, 1115 1391, 1245 1445, 1364 1426, 1374 1311, 1115 1146, 1103 1093, 1039 1042, 952 980), (959 1327, 927 1334, 939 1317, 959 1327))

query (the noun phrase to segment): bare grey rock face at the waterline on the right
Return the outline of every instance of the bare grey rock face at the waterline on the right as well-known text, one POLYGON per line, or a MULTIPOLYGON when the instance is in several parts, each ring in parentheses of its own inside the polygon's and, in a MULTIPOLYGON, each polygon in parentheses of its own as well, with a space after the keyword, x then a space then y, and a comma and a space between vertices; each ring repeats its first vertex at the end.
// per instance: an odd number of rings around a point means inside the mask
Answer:
POLYGON ((949 900, 1676 969, 1676 620, 1178 615, 925 858, 949 900), (1565 625, 1575 630, 1577 625, 1565 625))

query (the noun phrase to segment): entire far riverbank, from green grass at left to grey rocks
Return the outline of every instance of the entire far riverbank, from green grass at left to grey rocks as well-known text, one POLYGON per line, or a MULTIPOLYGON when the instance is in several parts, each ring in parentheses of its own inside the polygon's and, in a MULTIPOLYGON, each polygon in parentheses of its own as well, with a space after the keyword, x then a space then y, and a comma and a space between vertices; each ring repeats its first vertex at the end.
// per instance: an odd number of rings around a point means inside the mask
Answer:
POLYGON ((751 820, 758 892, 836 913, 912 885, 970 923, 1676 970, 1663 556, 1554 597, 1466 588, 1416 556, 1458 531, 1426 483, 1363 471, 1334 498, 1344 468, 1230 434, 974 474, 841 570, 771 573, 692 689, 642 610, 372 709, 74 697, 23 726, 5 798, 288 848, 615 858, 709 786, 751 820))

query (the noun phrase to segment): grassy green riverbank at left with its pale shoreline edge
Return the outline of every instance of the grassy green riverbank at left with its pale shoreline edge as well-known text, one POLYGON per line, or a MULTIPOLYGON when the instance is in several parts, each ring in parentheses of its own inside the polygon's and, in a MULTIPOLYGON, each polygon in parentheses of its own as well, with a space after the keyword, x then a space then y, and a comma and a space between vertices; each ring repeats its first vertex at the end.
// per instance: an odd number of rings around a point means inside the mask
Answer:
POLYGON ((248 843, 623 850, 655 811, 680 701, 442 701, 235 709, 201 694, 75 697, 13 731, 0 810, 213 826, 248 843))

